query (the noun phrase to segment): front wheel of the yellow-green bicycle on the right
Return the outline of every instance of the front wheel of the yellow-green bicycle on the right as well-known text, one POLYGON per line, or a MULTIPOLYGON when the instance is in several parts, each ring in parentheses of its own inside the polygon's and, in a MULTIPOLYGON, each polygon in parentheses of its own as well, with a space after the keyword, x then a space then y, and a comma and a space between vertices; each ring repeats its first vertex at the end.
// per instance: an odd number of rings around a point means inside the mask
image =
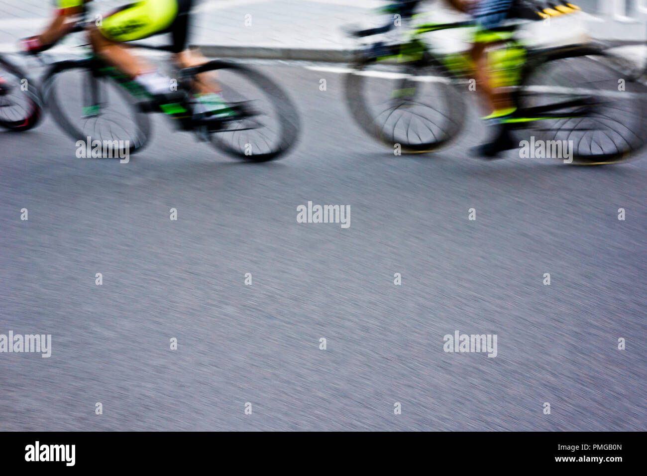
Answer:
POLYGON ((366 63, 345 78, 346 101, 371 137, 402 152, 448 145, 463 129, 465 101, 453 80, 433 67, 366 63))

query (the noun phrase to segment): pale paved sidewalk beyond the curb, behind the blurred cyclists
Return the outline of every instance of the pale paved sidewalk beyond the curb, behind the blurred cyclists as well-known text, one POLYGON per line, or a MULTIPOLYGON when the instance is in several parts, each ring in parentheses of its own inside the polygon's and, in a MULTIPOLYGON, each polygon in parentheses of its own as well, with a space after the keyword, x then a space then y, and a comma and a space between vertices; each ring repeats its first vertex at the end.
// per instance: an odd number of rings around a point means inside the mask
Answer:
MULTIPOLYGON (((124 3, 126 0, 94 0, 89 5, 94 16, 124 3)), ((203 0, 193 11, 190 41, 210 56, 346 61, 356 43, 345 36, 342 27, 384 23, 386 17, 374 10, 384 3, 380 0, 203 0)), ((436 21, 458 18, 443 2, 428 1, 425 5, 425 11, 432 12, 436 21)), ((582 6, 593 8, 593 2, 584 0, 582 6)), ((50 0, 0 0, 0 51, 15 51, 17 39, 38 32, 47 23, 51 8, 50 0)), ((610 16, 601 18, 586 13, 570 17, 573 18, 555 19, 548 33, 542 30, 534 37, 540 42, 567 42, 581 40, 588 32, 594 38, 637 41, 645 38, 646 27, 639 21, 620 22, 610 16)), ((68 38, 63 47, 78 45, 82 38, 79 35, 68 38)), ((453 43, 448 49, 460 49, 459 43, 466 39, 448 34, 446 40, 453 43)), ((167 41, 164 36, 146 40, 152 44, 167 41)))

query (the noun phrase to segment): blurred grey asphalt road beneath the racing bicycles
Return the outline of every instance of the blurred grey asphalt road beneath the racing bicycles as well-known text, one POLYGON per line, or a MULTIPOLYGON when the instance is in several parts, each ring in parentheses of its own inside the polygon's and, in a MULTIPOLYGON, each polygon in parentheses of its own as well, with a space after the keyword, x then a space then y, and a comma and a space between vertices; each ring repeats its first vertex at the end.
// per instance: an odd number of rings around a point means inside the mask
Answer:
POLYGON ((52 335, 0 354, 0 430, 647 429, 646 160, 479 161, 473 117, 396 157, 338 74, 263 69, 302 116, 275 163, 163 117, 128 164, 77 159, 51 117, 0 132, 0 334, 52 335), (297 223, 307 201, 350 227, 297 223), (444 352, 456 330, 498 355, 444 352))

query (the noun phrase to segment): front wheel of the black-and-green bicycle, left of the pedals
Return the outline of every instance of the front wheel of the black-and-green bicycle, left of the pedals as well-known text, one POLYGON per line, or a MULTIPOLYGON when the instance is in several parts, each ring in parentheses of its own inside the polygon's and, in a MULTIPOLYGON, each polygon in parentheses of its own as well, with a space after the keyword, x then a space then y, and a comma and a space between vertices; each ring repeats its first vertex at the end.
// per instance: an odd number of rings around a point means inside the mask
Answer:
POLYGON ((135 153, 148 142, 150 123, 133 96, 91 58, 54 63, 45 78, 56 123, 74 141, 99 141, 104 150, 135 153))

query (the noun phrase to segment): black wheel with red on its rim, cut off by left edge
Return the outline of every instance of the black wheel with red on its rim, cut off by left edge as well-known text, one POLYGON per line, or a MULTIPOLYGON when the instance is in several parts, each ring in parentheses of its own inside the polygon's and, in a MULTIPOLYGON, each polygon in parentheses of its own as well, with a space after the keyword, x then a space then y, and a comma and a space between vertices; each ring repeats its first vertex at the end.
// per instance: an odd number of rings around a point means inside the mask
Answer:
POLYGON ((0 56, 0 126, 26 131, 42 116, 40 93, 25 73, 0 56))

